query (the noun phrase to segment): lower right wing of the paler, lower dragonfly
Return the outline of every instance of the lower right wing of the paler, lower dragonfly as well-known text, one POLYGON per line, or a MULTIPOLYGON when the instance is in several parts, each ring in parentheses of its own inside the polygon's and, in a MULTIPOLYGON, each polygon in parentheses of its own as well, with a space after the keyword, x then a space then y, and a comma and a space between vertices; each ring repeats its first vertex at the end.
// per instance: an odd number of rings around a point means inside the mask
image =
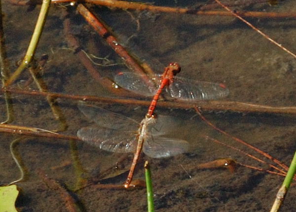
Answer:
POLYGON ((154 137, 144 142, 143 151, 152 158, 171 157, 187 152, 189 143, 180 139, 154 137))

